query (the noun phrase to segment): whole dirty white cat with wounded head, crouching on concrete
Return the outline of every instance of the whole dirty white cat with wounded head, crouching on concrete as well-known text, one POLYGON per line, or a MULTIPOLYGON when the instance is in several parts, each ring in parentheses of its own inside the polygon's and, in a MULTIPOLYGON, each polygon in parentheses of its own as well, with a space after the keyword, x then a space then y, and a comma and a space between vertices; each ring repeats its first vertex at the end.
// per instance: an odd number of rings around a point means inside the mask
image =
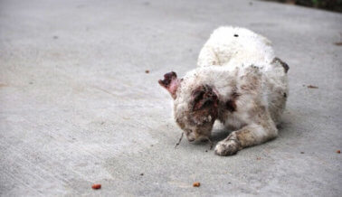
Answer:
POLYGON ((170 72, 164 80, 159 80, 174 98, 174 117, 186 138, 189 141, 208 139, 216 120, 233 130, 215 146, 216 155, 234 155, 244 147, 275 138, 276 125, 280 123, 289 95, 289 66, 274 57, 270 41, 242 28, 215 30, 204 48, 208 46, 216 51, 204 55, 207 49, 203 49, 198 68, 187 72, 183 79, 177 79, 176 73, 170 72), (247 41, 226 42, 243 38, 247 41), (252 46, 261 49, 245 52, 244 42, 255 42, 252 46), (173 84, 171 89, 169 84, 173 84))

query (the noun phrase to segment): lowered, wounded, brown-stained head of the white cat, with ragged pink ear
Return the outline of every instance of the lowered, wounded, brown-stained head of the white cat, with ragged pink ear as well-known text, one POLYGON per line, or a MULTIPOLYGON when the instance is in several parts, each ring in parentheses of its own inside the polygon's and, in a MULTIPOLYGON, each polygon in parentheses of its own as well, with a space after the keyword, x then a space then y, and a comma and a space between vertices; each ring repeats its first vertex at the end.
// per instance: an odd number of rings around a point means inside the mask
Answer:
POLYGON ((218 95, 208 84, 196 83, 192 78, 177 79, 176 72, 168 72, 159 84, 174 99, 174 117, 188 141, 211 136, 218 116, 218 95))

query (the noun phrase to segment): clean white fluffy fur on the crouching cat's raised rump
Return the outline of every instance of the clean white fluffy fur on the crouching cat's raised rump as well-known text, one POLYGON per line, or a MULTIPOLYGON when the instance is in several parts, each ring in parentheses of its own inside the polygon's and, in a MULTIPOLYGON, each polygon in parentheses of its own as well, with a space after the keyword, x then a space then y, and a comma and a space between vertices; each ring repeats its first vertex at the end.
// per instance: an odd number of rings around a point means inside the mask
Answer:
POLYGON ((270 63, 274 57, 267 38, 242 27, 224 26, 205 42, 197 66, 270 63))

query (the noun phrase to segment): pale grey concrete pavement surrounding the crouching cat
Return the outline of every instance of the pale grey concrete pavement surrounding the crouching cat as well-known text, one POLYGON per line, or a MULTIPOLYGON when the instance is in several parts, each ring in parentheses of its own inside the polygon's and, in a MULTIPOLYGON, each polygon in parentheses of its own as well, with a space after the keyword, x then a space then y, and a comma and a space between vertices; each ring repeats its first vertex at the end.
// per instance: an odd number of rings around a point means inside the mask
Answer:
POLYGON ((2 0, 0 195, 341 196, 335 42, 341 14, 293 5, 2 0), (194 69, 229 24, 268 37, 290 65, 280 136, 229 157, 186 140, 175 149, 181 130, 157 80, 194 69))

